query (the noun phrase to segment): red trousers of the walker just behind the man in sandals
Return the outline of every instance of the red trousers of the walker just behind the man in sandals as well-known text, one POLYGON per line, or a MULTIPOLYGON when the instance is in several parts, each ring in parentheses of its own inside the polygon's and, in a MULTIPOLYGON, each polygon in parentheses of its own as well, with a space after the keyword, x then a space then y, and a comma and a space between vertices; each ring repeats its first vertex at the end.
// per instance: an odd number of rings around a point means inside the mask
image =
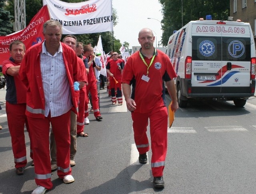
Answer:
MULTIPOLYGON (((92 81, 90 83, 88 83, 88 85, 86 85, 86 95, 89 95, 89 91, 91 93, 92 96, 92 108, 93 108, 93 112, 94 112, 94 117, 98 117, 100 116, 100 108, 99 108, 99 99, 98 99, 98 90, 97 90, 97 85, 96 85, 96 80, 92 81)), ((88 113, 88 102, 87 102, 87 109, 86 106, 84 107, 84 118, 89 116, 88 113)))

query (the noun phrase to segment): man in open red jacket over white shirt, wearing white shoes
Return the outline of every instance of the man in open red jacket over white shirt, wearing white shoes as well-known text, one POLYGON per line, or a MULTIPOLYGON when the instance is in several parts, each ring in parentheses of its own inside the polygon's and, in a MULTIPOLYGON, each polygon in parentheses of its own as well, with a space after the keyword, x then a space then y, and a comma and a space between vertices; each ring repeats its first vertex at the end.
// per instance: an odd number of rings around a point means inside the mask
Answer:
POLYGON ((26 115, 31 132, 38 187, 32 194, 52 189, 49 149, 50 124, 57 147, 57 174, 64 183, 74 182, 70 167, 70 111, 77 113, 75 87, 80 77, 74 50, 60 42, 62 25, 44 23, 45 40, 30 47, 20 66, 20 77, 28 88, 26 115))

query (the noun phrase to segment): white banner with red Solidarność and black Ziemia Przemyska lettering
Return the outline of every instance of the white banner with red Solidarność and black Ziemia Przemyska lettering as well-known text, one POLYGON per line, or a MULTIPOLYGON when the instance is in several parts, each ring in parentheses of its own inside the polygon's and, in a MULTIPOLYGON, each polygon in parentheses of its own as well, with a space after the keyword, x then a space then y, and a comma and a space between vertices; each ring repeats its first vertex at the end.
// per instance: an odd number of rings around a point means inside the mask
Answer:
POLYGON ((50 18, 62 24, 63 34, 91 34, 113 30, 112 0, 66 3, 43 0, 50 18))

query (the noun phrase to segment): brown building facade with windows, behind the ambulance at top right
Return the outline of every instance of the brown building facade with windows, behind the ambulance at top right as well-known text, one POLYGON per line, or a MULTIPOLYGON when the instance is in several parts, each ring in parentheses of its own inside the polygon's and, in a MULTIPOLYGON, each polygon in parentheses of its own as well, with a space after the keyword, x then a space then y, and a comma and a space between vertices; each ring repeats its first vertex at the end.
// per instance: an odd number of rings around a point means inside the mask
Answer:
POLYGON ((230 0, 230 16, 249 23, 256 42, 256 0, 230 0))

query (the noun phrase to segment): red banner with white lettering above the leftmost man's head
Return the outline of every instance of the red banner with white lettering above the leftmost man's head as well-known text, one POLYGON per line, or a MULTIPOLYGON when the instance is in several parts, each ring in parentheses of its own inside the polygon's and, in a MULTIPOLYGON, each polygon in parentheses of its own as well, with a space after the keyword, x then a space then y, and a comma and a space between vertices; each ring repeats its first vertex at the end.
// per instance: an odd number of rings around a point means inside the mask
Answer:
POLYGON ((24 30, 7 36, 0 36, 0 64, 10 57, 9 47, 14 40, 22 41, 26 49, 42 42, 44 40, 43 24, 47 20, 50 20, 48 8, 43 6, 24 30))

